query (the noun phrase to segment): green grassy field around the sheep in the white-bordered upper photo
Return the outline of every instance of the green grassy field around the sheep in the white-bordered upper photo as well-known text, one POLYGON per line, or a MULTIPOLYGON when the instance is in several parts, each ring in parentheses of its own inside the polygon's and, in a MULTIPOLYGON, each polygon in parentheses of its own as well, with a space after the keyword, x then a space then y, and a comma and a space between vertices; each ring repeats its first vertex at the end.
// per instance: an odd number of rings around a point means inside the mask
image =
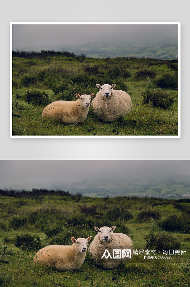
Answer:
POLYGON ((93 59, 45 52, 25 57, 13 57, 13 135, 178 135, 177 60, 93 59), (42 120, 47 102, 77 100, 76 93, 96 95, 96 84, 113 83, 131 96, 133 104, 132 112, 115 122, 100 121, 91 107, 82 124, 42 120), (142 104, 147 89, 167 92, 171 104, 167 109, 142 104), (27 100, 27 92, 36 91, 47 95, 45 101, 27 100))

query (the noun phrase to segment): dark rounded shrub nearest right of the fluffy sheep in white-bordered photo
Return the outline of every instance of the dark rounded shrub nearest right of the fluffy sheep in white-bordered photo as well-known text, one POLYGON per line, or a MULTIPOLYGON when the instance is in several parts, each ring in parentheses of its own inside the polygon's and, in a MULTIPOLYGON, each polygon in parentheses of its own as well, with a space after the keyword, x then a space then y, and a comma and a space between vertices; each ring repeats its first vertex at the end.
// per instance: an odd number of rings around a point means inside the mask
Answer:
POLYGON ((151 104, 157 108, 168 109, 174 102, 173 96, 162 90, 147 89, 145 92, 141 92, 141 96, 143 97, 143 104, 151 104))

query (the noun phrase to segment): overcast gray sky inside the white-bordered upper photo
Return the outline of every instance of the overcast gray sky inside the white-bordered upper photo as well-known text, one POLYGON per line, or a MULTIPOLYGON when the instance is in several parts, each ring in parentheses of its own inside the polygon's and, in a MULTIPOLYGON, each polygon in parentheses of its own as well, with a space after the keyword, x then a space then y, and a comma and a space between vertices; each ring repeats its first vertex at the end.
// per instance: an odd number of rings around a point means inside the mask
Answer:
POLYGON ((14 24, 13 51, 62 51, 64 47, 94 42, 127 43, 159 37, 178 37, 178 25, 163 24, 14 24))

